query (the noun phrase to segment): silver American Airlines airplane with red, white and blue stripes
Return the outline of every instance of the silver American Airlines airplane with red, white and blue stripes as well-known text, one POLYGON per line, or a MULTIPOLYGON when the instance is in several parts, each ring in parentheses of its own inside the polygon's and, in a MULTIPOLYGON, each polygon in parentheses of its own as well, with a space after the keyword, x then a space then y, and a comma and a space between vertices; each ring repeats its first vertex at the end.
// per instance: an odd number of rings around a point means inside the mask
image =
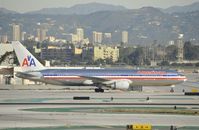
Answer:
POLYGON ((131 69, 55 69, 44 67, 20 42, 13 41, 13 48, 22 72, 16 76, 46 84, 66 86, 96 86, 95 92, 105 88, 128 90, 133 86, 172 86, 186 81, 174 70, 131 69))

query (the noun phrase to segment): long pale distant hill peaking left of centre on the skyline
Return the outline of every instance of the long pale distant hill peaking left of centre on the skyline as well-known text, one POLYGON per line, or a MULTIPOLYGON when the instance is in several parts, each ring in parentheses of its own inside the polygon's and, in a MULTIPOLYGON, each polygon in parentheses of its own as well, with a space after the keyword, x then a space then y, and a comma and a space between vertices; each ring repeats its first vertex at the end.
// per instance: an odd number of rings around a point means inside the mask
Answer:
POLYGON ((70 8, 44 8, 28 14, 47 14, 47 15, 69 15, 69 14, 90 14, 98 11, 118 11, 125 10, 123 6, 114 6, 101 3, 78 4, 70 8))

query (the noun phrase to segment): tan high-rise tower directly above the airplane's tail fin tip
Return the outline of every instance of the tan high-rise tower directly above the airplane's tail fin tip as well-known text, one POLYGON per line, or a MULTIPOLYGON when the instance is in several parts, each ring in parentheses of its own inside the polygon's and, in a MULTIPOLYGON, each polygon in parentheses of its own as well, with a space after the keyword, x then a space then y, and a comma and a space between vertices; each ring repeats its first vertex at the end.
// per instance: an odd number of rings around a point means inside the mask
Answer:
POLYGON ((20 25, 17 25, 17 24, 12 25, 12 40, 13 41, 20 41, 21 40, 20 25))

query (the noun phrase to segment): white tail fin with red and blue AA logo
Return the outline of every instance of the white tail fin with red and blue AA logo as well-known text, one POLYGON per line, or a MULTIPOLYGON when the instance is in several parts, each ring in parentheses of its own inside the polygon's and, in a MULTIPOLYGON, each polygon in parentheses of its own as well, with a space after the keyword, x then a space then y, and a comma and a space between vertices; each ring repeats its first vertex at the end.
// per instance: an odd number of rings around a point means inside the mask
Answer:
POLYGON ((23 71, 44 69, 44 66, 19 41, 13 41, 12 46, 23 71))

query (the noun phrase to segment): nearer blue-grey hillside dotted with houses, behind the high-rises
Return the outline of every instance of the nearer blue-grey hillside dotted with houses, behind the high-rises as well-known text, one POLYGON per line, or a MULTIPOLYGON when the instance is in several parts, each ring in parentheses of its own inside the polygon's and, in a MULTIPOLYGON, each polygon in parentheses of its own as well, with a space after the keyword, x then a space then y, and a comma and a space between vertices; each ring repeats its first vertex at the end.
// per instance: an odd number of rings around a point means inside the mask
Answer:
MULTIPOLYGON (((61 37, 74 33, 77 27, 85 30, 92 39, 92 31, 112 33, 112 41, 121 41, 121 32, 129 32, 129 43, 146 44, 157 40, 166 43, 175 40, 180 33, 185 40, 199 41, 199 11, 188 13, 164 13, 153 7, 122 11, 98 11, 87 15, 1 14, 0 35, 12 35, 12 23, 23 25, 27 34, 35 34, 37 23, 48 24, 48 35, 61 37), (61 29, 60 29, 61 28, 61 29)), ((198 42, 199 43, 199 42, 198 42)))

